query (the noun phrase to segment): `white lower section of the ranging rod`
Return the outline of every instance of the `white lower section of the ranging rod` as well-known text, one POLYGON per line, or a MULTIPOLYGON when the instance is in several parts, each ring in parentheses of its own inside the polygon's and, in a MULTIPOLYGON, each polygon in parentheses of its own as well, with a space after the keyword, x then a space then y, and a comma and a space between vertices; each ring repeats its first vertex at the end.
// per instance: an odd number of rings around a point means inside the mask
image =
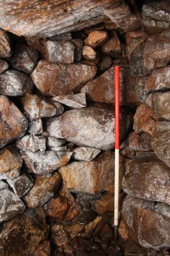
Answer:
POLYGON ((115 149, 114 166, 114 226, 119 222, 119 149, 115 149))

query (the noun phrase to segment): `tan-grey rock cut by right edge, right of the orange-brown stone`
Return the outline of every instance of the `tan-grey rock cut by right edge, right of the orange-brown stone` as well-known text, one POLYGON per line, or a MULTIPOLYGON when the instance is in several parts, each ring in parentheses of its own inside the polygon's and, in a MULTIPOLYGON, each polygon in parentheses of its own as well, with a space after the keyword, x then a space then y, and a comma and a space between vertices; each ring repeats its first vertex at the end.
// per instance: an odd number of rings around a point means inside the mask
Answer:
POLYGON ((151 108, 159 115, 170 121, 170 92, 156 92, 150 96, 151 108))

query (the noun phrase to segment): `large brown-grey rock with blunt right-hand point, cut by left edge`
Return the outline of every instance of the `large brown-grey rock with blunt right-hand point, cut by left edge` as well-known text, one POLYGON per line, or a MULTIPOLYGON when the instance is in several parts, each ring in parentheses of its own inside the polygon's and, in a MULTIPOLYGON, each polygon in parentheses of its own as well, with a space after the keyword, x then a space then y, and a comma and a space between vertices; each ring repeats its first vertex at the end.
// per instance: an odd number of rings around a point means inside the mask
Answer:
POLYGON ((27 131, 27 119, 7 97, 0 96, 0 148, 27 131))

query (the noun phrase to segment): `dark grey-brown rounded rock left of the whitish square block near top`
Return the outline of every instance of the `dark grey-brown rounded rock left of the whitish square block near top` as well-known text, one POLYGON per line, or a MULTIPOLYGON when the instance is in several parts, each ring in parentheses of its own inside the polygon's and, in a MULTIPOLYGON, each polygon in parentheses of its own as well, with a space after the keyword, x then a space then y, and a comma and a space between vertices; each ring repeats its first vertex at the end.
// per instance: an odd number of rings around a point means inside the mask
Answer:
POLYGON ((24 44, 17 44, 10 62, 14 69, 29 74, 34 70, 37 60, 37 50, 24 44))

